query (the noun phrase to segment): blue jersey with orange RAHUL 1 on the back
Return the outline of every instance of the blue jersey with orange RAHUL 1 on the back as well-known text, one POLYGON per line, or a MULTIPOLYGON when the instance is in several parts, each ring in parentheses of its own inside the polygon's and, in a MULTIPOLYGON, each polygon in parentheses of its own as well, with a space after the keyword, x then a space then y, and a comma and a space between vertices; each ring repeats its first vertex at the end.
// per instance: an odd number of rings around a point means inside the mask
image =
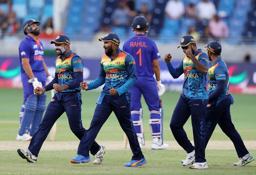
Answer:
POLYGON ((123 50, 136 62, 137 76, 153 76, 152 61, 160 58, 156 43, 143 34, 136 34, 124 43, 123 50))

